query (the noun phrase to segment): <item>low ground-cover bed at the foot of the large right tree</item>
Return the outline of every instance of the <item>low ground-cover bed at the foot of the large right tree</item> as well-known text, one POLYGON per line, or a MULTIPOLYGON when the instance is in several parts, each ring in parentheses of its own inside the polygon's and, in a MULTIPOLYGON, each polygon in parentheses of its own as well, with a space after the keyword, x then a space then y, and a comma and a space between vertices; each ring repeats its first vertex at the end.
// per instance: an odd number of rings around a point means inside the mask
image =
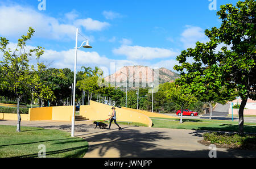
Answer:
POLYGON ((204 133, 203 137, 204 140, 200 142, 204 145, 209 145, 212 143, 217 147, 256 150, 255 134, 246 134, 240 136, 235 133, 210 132, 204 133))

